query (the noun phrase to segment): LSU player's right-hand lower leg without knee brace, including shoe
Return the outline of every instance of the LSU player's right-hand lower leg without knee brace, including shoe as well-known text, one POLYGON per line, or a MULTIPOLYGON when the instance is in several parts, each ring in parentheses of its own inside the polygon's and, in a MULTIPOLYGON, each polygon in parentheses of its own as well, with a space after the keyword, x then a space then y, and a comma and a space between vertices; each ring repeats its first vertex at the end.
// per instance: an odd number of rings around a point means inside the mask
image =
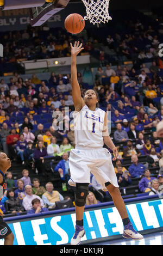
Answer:
POLYGON ((105 186, 107 190, 109 191, 112 200, 114 202, 115 207, 117 208, 124 225, 123 230, 123 237, 124 238, 131 238, 134 240, 140 240, 143 239, 143 236, 139 234, 134 228, 133 224, 130 222, 126 206, 124 204, 123 198, 121 196, 120 190, 118 187, 115 187, 114 185, 110 184, 110 182, 106 182, 105 186))

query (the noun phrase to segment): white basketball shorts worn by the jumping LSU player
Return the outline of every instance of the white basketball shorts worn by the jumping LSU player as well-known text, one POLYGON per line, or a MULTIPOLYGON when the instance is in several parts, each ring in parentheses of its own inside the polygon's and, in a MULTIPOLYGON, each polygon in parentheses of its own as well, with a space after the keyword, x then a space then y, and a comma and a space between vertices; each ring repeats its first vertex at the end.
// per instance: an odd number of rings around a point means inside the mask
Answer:
POLYGON ((112 165, 111 154, 105 148, 75 148, 71 149, 69 157, 71 178, 68 184, 90 183, 90 172, 106 191, 105 182, 118 186, 117 176, 112 165))

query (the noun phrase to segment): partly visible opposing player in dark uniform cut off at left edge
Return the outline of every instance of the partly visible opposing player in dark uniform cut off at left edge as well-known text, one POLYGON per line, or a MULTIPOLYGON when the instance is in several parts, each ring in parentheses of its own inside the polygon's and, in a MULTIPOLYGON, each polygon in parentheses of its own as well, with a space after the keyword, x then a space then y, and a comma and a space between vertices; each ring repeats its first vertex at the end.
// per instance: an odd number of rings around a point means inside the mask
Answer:
MULTIPOLYGON (((0 153, 0 201, 3 198, 4 192, 7 188, 7 178, 5 173, 11 167, 11 161, 8 156, 0 153)), ((13 245, 14 234, 9 228, 8 224, 3 221, 3 214, 0 212, 0 239, 4 238, 4 245, 13 245)))

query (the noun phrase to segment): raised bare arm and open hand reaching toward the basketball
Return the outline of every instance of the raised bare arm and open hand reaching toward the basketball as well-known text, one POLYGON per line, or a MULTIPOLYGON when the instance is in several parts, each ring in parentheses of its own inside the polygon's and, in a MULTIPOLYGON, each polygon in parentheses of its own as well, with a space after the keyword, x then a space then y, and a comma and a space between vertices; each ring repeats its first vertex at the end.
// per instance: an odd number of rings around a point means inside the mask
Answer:
POLYGON ((80 111, 85 105, 84 100, 81 96, 80 86, 77 78, 77 55, 84 48, 82 44, 79 45, 79 41, 74 43, 74 46, 71 45, 71 87, 72 87, 72 99, 76 111, 80 111))

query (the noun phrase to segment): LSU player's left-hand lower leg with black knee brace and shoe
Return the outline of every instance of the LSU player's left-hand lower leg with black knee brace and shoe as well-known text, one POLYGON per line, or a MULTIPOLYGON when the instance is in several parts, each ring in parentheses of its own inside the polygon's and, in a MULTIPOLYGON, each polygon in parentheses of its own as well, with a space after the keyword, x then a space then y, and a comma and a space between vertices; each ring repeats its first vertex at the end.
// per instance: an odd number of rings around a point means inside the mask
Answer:
POLYGON ((76 230, 71 239, 71 245, 79 245, 81 238, 85 235, 83 227, 83 214, 88 193, 89 183, 77 183, 75 195, 76 207, 76 230))

